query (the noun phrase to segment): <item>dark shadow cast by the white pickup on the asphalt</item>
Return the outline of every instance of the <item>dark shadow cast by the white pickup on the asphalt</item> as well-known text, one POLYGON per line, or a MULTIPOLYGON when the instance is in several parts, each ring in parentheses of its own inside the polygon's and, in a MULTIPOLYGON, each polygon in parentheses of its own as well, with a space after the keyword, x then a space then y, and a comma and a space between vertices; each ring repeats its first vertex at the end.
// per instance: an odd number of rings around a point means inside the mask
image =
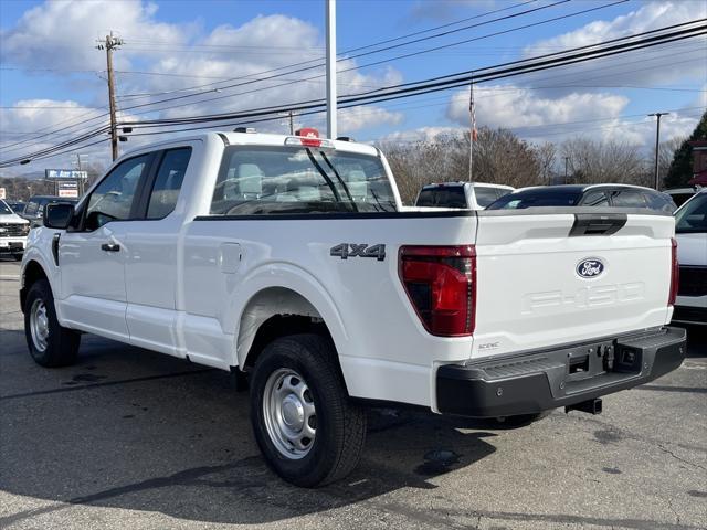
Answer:
MULTIPOLYGON (((247 393, 235 393, 226 373, 93 337, 77 365, 43 370, 33 367, 21 331, 2 336, 10 344, 0 354, 3 379, 29 375, 9 389, 3 382, 0 488, 52 504, 2 517, 1 528, 72 505, 204 522, 277 521, 374 504, 400 488, 434 489, 434 477, 495 452, 486 442, 495 434, 462 432, 456 427, 469 425, 458 420, 371 411, 354 474, 299 489, 264 464, 251 434, 247 393)), ((443 522, 420 511, 415 517, 443 522)))

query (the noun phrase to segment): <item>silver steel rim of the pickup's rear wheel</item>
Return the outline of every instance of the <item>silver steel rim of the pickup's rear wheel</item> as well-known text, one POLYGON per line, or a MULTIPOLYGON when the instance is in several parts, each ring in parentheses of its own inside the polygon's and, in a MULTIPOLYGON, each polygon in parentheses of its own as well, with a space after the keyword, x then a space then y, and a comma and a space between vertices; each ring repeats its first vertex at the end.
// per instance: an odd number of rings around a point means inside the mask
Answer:
POLYGON ((309 454, 317 431, 317 413, 312 392, 296 371, 281 368, 267 378, 263 417, 267 435, 281 455, 297 460, 309 454))

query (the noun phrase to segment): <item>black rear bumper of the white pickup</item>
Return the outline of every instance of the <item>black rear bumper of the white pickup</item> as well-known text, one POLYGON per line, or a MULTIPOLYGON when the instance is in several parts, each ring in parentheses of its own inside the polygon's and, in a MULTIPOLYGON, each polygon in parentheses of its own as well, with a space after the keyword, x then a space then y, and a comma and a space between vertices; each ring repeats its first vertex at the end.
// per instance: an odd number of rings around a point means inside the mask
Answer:
POLYGON ((534 351, 436 373, 442 414, 498 417, 572 405, 647 383, 678 368, 686 332, 665 327, 555 350, 534 351))

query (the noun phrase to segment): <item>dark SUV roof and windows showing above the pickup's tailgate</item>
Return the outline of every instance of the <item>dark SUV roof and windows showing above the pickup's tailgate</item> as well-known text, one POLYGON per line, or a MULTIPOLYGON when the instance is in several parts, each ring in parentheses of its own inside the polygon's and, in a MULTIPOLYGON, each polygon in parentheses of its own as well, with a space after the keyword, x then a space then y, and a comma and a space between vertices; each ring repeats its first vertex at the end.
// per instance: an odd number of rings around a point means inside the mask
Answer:
POLYGON ((502 197, 488 210, 523 210, 532 206, 647 208, 673 213, 673 199, 651 188, 629 184, 562 184, 521 188, 502 197))

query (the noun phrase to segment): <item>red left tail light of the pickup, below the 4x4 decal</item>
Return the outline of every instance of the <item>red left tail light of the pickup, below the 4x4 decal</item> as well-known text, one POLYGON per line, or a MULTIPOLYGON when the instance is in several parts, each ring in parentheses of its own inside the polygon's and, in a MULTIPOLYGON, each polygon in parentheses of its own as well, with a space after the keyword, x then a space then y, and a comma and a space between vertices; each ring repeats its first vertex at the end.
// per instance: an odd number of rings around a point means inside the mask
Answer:
POLYGON ((476 251, 465 246, 402 246, 400 279, 423 326, 440 337, 474 332, 476 251))

